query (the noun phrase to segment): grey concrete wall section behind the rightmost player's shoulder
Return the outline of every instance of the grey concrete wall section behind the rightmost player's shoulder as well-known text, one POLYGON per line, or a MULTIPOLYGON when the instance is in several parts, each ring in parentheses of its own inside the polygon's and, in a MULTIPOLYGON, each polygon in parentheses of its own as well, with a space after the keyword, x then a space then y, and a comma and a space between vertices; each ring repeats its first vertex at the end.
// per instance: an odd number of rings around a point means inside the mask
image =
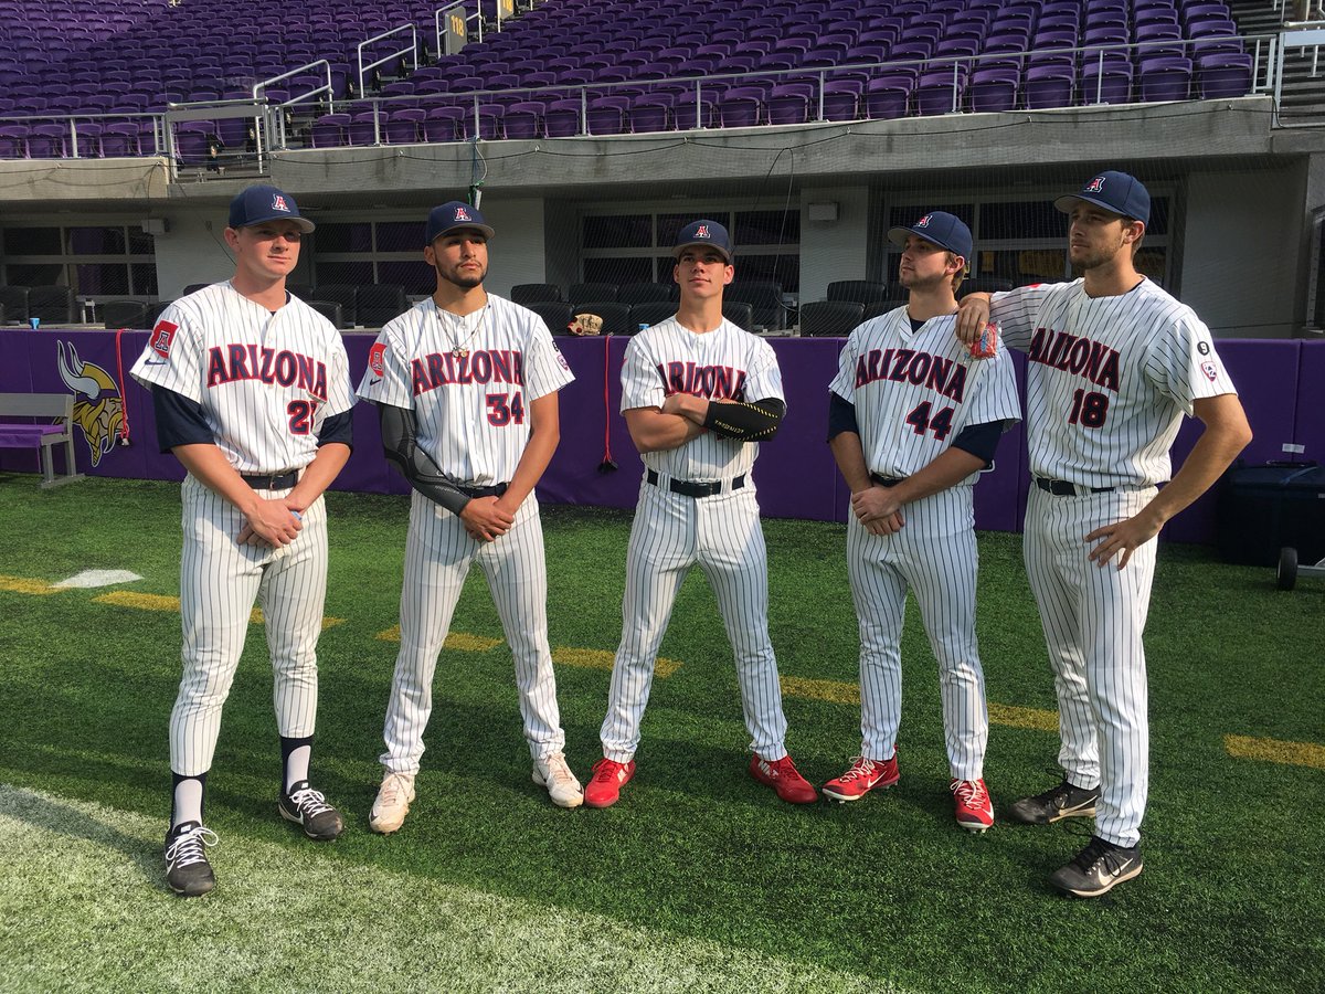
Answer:
POLYGON ((1304 163, 1194 168, 1186 179, 1179 296, 1219 338, 1291 338, 1301 329, 1297 256, 1304 163))

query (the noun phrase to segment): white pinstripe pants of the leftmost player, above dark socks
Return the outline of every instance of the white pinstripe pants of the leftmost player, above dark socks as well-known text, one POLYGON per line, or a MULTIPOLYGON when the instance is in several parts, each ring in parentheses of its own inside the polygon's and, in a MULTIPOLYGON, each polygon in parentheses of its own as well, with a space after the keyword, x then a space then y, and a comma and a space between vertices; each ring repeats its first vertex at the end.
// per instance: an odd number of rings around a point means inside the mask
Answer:
MULTIPOLYGON (((272 490, 281 497, 289 490, 272 490)), ((311 736, 318 717, 317 644, 327 586, 327 514, 319 497, 288 546, 238 545, 244 516, 192 476, 180 488, 184 553, 180 618, 184 676, 170 717, 171 769, 196 777, 212 766, 221 708, 238 669, 253 614, 262 608, 272 656, 276 726, 311 736)))

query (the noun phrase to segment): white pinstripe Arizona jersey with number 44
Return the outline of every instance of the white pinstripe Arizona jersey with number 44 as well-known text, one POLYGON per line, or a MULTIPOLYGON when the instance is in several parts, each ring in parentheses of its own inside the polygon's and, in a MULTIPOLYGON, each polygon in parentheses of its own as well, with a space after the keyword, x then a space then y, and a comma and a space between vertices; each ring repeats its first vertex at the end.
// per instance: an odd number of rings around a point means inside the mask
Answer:
MULTIPOLYGON (((856 408, 869 472, 904 478, 928 467, 963 428, 1022 416, 1007 351, 974 359, 942 314, 912 331, 906 307, 851 333, 828 388, 856 408)), ((959 485, 973 485, 971 473, 959 485)))

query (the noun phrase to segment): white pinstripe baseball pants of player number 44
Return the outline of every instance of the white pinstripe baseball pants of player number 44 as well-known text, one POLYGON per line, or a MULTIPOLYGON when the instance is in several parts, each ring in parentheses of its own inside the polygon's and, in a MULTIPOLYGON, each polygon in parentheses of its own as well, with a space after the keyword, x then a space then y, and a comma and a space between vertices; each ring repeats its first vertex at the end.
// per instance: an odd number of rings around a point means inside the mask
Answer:
POLYGON ((988 716, 975 645, 975 549, 971 488, 954 486, 906 505, 906 525, 872 535, 847 521, 847 573, 860 623, 860 753, 890 759, 902 710, 901 637, 906 588, 916 591, 938 660, 943 736, 955 779, 983 775, 988 716))

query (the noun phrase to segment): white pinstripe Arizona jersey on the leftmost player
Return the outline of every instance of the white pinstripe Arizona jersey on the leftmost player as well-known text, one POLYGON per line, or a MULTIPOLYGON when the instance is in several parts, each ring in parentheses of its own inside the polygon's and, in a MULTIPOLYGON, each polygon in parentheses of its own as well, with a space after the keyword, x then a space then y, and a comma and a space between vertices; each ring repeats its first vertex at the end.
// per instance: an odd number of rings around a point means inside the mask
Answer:
POLYGON ((322 421, 354 407, 335 326, 297 297, 273 313, 229 282, 162 311, 132 376, 200 404, 241 473, 302 469, 322 421))

